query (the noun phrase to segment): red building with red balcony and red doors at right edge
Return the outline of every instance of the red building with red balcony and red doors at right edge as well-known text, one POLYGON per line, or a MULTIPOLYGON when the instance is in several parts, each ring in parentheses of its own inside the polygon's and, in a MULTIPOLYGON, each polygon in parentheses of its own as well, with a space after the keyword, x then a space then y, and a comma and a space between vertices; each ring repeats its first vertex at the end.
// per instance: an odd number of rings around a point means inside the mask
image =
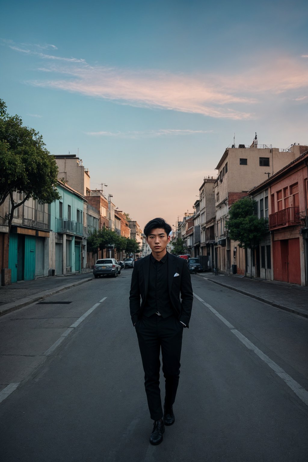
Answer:
POLYGON ((269 220, 266 242, 252 261, 253 274, 308 285, 308 151, 249 195, 257 201, 259 216, 269 220))

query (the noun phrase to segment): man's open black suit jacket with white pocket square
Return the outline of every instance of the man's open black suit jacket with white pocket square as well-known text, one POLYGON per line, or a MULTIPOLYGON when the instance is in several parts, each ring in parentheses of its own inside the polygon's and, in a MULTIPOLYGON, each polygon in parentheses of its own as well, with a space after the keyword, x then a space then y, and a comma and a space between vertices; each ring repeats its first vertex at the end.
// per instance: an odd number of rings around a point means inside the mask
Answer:
MULTIPOLYGON (((138 321, 145 306, 149 284, 150 256, 135 261, 129 294, 129 308, 132 322, 138 321), (141 296, 141 304, 140 304, 141 296)), ((193 289, 187 262, 175 255, 168 255, 168 288, 169 296, 175 314, 179 321, 189 325, 193 306, 193 289), (178 276, 175 276, 175 274, 178 276), (181 300, 180 300, 181 293, 181 300)))

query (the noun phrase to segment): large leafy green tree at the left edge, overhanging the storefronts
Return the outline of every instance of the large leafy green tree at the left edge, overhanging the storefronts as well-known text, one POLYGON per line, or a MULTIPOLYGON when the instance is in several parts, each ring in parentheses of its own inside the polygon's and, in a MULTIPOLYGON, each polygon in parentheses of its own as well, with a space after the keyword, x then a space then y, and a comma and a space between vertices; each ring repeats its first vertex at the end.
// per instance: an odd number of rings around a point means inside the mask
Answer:
POLYGON ((6 103, 0 99, 0 205, 9 196, 11 213, 32 197, 41 204, 50 204, 61 196, 56 188, 58 166, 34 128, 24 127, 19 116, 9 116, 6 103), (17 204, 13 192, 23 193, 17 204))

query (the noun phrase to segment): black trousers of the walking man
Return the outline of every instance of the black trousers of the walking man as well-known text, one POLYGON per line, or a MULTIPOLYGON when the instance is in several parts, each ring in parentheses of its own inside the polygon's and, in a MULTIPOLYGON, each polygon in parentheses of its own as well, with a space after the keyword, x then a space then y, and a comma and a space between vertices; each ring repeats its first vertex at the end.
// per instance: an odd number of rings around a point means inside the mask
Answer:
POLYGON ((159 388, 160 350, 165 377, 165 405, 170 407, 175 402, 180 377, 183 327, 175 316, 163 318, 157 314, 142 316, 135 324, 145 371, 145 393, 153 420, 163 417, 159 388))

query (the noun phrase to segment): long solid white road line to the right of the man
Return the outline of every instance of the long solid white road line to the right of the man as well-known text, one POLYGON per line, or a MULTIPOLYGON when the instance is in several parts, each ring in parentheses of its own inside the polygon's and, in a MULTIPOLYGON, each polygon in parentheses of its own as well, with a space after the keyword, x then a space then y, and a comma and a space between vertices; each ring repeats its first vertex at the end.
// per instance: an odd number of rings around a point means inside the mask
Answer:
POLYGON ((230 332, 236 335, 236 337, 245 345, 248 350, 252 350, 257 356, 259 356, 262 361, 264 361, 277 375, 280 377, 291 390, 308 406, 308 391, 302 388, 302 386, 297 383, 292 377, 289 376, 278 364, 276 364, 272 359, 266 356, 257 346, 255 346, 247 337, 245 337, 241 332, 236 330, 232 324, 230 324, 223 316, 221 316, 218 311, 214 310, 211 305, 206 303, 202 298, 198 297, 197 294, 193 294, 202 304, 204 304, 212 313, 214 313, 227 327, 229 327, 230 332))

